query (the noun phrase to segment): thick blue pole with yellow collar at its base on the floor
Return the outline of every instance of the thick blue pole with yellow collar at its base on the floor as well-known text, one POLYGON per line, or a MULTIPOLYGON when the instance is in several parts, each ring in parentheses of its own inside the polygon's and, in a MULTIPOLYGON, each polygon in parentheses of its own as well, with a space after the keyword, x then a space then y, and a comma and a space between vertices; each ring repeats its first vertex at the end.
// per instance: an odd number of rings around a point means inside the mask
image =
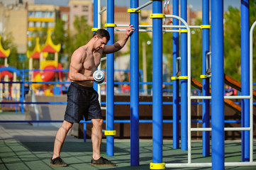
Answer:
MULTIPOLYGON (((162 13, 162 1, 152 13, 162 13)), ((162 163, 162 18, 152 18, 152 46, 152 163, 162 163)))

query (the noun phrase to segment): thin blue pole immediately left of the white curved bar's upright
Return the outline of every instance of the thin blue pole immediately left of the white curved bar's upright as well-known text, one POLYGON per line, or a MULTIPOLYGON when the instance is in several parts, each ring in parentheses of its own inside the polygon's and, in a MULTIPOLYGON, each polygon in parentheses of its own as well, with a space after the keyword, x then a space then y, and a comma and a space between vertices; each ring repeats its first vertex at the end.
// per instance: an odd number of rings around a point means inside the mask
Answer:
MULTIPOLYGON (((181 17, 187 21, 187 0, 181 1, 181 17)), ((182 26, 184 24, 182 23, 182 26)), ((183 28, 185 29, 185 28, 183 28)), ((181 142, 182 150, 187 150, 187 33, 181 33, 181 142)))

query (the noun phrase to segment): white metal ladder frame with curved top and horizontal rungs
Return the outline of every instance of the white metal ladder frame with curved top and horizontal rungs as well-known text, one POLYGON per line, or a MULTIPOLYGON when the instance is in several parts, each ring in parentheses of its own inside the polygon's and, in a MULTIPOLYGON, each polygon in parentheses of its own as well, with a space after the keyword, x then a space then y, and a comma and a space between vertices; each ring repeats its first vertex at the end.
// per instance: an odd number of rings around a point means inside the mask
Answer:
MULTIPOLYGON (((211 96, 191 96, 191 33, 189 26, 187 23, 178 16, 166 15, 165 17, 169 18, 177 18, 179 21, 182 21, 186 26, 187 32, 187 57, 188 57, 188 162, 183 164, 165 164, 165 167, 205 167, 205 166, 212 166, 213 163, 192 163, 191 162, 191 132, 192 131, 211 131, 211 128, 191 128, 191 99, 211 99, 211 96)), ((252 24, 250 29, 250 95, 249 96, 224 96, 226 99, 243 99, 248 98, 250 99, 250 127, 249 128, 224 128, 224 130, 249 130, 250 131, 250 162, 225 162, 225 166, 255 166, 256 162, 253 162, 253 94, 252 94, 252 33, 253 29, 256 26, 255 23, 252 24)))

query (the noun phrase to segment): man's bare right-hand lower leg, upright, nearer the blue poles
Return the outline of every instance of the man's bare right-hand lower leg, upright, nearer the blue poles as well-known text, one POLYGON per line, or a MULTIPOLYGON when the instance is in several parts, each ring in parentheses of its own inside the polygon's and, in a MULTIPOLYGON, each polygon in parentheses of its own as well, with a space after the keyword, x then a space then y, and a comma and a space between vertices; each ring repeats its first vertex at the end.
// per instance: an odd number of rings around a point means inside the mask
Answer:
POLYGON ((92 142, 92 157, 94 160, 101 157, 101 139, 102 139, 102 119, 91 119, 93 124, 91 132, 91 142, 92 142))

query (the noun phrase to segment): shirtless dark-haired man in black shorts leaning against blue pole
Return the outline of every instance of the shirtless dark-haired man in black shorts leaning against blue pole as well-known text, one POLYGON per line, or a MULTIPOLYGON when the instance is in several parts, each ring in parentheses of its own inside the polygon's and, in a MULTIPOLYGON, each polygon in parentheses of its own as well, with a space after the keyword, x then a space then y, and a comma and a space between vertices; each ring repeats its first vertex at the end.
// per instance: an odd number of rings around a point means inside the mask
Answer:
POLYGON ((60 150, 73 123, 79 123, 83 117, 85 120, 91 120, 93 124, 91 166, 116 166, 100 154, 103 119, 98 101, 99 96, 93 89, 92 75, 101 62, 101 55, 121 50, 134 30, 133 26, 128 26, 126 35, 121 40, 113 45, 106 45, 110 38, 108 31, 99 29, 87 45, 74 51, 69 66, 69 79, 72 83, 67 91, 65 118, 55 137, 50 166, 67 166, 60 158, 60 150))

